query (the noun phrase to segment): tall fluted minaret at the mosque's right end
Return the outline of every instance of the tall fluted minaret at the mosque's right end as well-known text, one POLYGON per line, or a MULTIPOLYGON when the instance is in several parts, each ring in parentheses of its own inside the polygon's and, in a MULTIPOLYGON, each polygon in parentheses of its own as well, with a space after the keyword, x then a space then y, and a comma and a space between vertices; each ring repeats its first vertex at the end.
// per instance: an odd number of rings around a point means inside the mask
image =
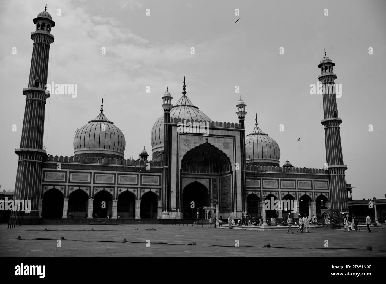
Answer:
POLYGON ((323 113, 324 133, 326 140, 326 159, 328 172, 330 174, 330 204, 331 209, 339 209, 341 213, 349 212, 347 205, 347 190, 345 181, 345 170, 343 164, 342 142, 340 141, 340 123, 342 119, 338 116, 337 99, 335 95, 336 74, 332 67, 335 63, 327 57, 324 50, 324 57, 318 65, 321 75, 318 79, 323 84, 323 113))

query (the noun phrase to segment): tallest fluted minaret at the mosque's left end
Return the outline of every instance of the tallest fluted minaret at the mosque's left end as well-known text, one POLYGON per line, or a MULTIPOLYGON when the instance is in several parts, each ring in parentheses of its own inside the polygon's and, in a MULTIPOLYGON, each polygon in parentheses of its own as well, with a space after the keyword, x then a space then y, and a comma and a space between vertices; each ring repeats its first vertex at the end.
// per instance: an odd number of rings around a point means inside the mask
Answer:
POLYGON ((26 96, 23 129, 20 148, 15 149, 19 156, 16 174, 14 199, 28 199, 31 201, 31 212, 26 216, 39 217, 39 202, 41 202, 41 164, 43 156, 47 155, 43 147, 44 114, 46 94, 48 59, 50 44, 54 42, 51 28, 55 27, 51 15, 46 11, 34 18, 35 32, 31 33, 34 41, 32 50, 31 69, 28 87, 23 89, 26 96))

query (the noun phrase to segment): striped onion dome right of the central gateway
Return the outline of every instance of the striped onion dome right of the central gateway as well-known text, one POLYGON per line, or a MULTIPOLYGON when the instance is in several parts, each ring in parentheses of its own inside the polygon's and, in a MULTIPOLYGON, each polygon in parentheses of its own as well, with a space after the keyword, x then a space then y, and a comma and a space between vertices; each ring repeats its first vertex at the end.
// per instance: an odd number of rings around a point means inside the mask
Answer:
POLYGON ((247 164, 279 166, 280 148, 274 139, 257 126, 245 139, 245 157, 247 164))

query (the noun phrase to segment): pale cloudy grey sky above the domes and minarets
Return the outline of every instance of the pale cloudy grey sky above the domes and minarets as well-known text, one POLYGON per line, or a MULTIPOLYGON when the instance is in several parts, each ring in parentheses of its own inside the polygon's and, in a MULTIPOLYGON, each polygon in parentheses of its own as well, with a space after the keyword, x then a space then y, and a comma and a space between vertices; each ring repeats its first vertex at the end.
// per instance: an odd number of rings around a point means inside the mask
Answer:
MULTIPOLYGON (((0 3, 1 190, 15 187, 32 19, 45 4, 0 3)), ((77 84, 78 93, 47 99, 43 145, 50 155, 73 155, 76 129, 97 116, 103 98, 104 114, 125 135, 125 158, 138 158, 143 147, 151 155, 161 97, 168 86, 176 102, 185 76, 187 96, 213 121, 238 122, 241 95, 246 134, 257 113, 259 127, 280 147, 281 165, 288 156, 296 167, 323 168, 323 106, 310 84, 326 49, 342 84, 337 104, 352 197, 385 198, 385 11, 382 0, 50 0, 56 26, 47 82, 77 84)))

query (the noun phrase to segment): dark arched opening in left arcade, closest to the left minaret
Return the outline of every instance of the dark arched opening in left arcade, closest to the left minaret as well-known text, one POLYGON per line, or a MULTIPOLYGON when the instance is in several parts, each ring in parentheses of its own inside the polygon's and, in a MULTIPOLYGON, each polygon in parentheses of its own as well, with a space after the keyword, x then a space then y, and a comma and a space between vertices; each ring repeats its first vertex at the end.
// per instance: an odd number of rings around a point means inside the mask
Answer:
POLYGON ((47 190, 43 195, 42 218, 63 217, 63 193, 57 188, 47 190))

